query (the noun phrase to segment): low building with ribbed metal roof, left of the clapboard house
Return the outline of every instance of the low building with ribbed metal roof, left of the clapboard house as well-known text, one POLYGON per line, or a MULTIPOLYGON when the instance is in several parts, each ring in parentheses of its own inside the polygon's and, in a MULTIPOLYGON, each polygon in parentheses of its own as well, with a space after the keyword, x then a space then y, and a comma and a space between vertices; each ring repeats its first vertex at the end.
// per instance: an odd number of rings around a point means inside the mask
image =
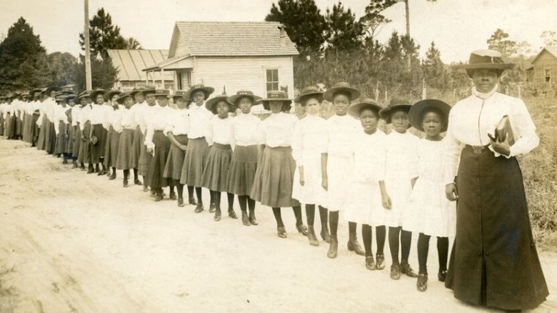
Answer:
POLYGON ((168 50, 116 50, 109 49, 112 64, 118 70, 114 89, 128 91, 135 87, 156 84, 159 88, 172 88, 174 76, 170 72, 147 73, 144 71, 149 66, 159 64, 168 59, 168 50), (162 84, 164 81, 164 86, 162 84))

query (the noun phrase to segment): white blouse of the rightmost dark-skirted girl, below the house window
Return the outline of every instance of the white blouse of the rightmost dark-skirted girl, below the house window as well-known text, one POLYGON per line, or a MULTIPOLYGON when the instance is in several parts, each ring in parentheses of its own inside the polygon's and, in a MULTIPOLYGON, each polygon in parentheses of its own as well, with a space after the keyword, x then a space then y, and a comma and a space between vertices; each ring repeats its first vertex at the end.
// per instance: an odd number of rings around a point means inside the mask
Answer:
POLYGON ((266 144, 271 148, 278 146, 291 146, 294 127, 298 118, 283 112, 271 114, 261 121, 258 134, 261 136, 259 143, 266 144))

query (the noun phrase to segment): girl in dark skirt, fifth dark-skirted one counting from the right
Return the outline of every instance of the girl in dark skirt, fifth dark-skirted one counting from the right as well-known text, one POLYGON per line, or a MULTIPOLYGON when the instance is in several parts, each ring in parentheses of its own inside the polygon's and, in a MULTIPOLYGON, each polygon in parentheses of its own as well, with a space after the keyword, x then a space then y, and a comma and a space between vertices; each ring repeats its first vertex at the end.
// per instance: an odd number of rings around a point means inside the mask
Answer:
MULTIPOLYGON (((188 132, 191 126, 190 117, 188 114, 187 104, 188 92, 177 90, 172 95, 176 109, 171 116, 171 120, 164 134, 169 137, 171 145, 169 150, 169 157, 166 159, 164 166, 164 177, 174 182, 178 192, 178 207, 184 207, 184 184, 181 184, 180 178, 182 174, 182 167, 184 166, 184 157, 186 156, 186 149, 188 147, 188 132)), ((194 187, 188 186, 189 203, 194 204, 194 187)))

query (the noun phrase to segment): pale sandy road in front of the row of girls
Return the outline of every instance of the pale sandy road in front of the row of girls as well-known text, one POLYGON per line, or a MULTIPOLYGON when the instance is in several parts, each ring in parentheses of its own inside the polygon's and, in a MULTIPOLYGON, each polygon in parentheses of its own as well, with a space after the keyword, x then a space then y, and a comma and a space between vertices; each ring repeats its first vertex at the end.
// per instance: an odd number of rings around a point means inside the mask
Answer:
MULTIPOLYGON (((206 211, 124 189, 119 175, 87 175, 0 139, 0 312, 490 312, 436 281, 434 242, 421 293, 414 279, 394 282, 346 251, 346 223, 331 260, 328 245, 310 247, 294 233, 289 209, 288 239, 279 239, 269 208, 258 208, 257 227, 216 223, 206 211)), ((556 292, 557 255, 541 253, 541 262, 556 292)), ((553 294, 535 310, 552 311, 553 294)))

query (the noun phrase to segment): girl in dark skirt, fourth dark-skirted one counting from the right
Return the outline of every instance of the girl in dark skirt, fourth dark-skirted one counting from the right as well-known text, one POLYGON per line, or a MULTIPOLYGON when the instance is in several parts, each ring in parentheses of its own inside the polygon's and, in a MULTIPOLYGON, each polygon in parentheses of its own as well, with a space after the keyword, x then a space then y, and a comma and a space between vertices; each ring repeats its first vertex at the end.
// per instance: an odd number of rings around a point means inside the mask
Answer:
MULTIPOLYGON (((203 182, 203 169, 205 167, 209 146, 205 139, 206 127, 213 117, 211 111, 205 107, 205 101, 215 89, 204 84, 196 84, 190 87, 187 98, 193 103, 189 106, 190 129, 188 132, 188 148, 182 166, 180 183, 188 187, 195 187, 197 194, 196 213, 203 212, 203 198, 201 197, 201 185, 203 182)), ((195 204, 191 202, 190 204, 195 204)), ((214 213, 214 204, 209 204, 209 212, 214 213)))

